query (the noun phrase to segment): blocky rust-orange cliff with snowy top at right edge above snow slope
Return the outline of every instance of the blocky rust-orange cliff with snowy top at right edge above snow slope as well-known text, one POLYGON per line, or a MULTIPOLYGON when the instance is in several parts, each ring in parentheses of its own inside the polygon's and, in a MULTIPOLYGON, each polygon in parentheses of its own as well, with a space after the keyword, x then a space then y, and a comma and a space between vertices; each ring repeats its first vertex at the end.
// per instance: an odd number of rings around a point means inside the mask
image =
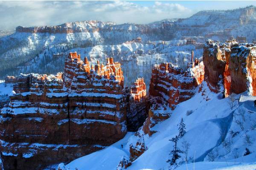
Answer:
POLYGON ((214 92, 220 90, 222 80, 224 96, 231 93, 249 91, 253 96, 255 90, 256 46, 239 44, 236 41, 225 43, 207 41, 203 55, 205 80, 214 92))

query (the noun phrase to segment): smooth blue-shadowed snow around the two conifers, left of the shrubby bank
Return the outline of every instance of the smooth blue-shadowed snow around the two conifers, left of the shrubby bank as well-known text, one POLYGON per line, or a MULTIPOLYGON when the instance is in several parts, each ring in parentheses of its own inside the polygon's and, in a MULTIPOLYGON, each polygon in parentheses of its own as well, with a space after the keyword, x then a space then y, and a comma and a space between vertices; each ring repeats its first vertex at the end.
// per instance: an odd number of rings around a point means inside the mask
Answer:
MULTIPOLYGON (((131 167, 128 167, 128 170, 166 169, 168 167, 166 160, 170 158, 168 151, 173 146, 169 139, 177 135, 177 124, 181 117, 183 117, 187 132, 178 142, 178 147, 182 148, 182 141, 189 141, 191 149, 188 156, 191 158, 195 156, 196 162, 204 161, 210 150, 221 144, 221 128, 229 128, 232 123, 233 111, 230 110, 228 105, 229 99, 220 99, 219 95, 221 94, 210 92, 205 82, 203 82, 202 91, 204 91, 205 96, 201 92, 197 92, 191 99, 177 105, 174 111, 166 111, 171 112, 170 118, 157 123, 151 128, 151 130, 156 130, 157 133, 154 133, 151 137, 144 136, 145 146, 148 147, 148 150, 136 159, 131 167), (206 96, 210 99, 209 101, 206 101, 206 96), (193 113, 186 116, 188 110, 193 110, 193 113)), ((142 133, 141 129, 139 133, 142 133)), ((131 143, 135 145, 136 141, 137 136, 128 133, 124 139, 110 147, 76 159, 67 164, 66 167, 70 167, 71 170, 75 167, 92 170, 104 167, 107 170, 114 170, 122 156, 129 156, 129 145, 131 143), (121 144, 123 144, 123 148, 120 147, 121 144)))

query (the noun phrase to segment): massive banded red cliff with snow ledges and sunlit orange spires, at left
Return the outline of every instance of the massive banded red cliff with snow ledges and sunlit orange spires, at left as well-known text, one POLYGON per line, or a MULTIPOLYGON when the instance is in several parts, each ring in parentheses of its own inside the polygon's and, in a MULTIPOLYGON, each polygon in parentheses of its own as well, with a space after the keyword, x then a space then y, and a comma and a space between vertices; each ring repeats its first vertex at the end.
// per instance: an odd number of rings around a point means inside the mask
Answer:
POLYGON ((21 74, 1 111, 5 169, 41 169, 110 145, 126 134, 120 64, 90 66, 71 53, 64 74, 21 74), (72 65, 72 69, 68 69, 72 65))

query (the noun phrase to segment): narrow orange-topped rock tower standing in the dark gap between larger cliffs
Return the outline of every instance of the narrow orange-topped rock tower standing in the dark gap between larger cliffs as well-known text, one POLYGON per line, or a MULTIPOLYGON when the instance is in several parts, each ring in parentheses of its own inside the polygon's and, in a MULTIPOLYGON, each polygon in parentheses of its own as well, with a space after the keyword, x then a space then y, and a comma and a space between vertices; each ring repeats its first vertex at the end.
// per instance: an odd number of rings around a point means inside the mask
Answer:
POLYGON ((147 117, 146 85, 143 78, 139 78, 131 85, 129 94, 129 111, 127 113, 127 128, 136 131, 143 125, 147 117))

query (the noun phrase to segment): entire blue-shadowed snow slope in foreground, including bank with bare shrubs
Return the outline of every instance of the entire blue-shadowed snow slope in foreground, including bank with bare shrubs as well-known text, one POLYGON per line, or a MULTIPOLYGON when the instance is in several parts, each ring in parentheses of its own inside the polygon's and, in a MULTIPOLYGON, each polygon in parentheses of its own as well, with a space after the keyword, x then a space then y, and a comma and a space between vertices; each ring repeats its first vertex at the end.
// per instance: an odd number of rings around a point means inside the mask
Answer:
MULTIPOLYGON (((169 164, 166 161, 170 159, 169 151, 174 144, 169 139, 178 134, 177 125, 181 118, 186 125, 186 133, 179 139, 177 146, 182 150, 182 142, 186 141, 189 142, 190 148, 188 164, 184 163, 184 154, 181 154, 181 158, 177 161, 180 163, 177 170, 254 170, 256 168, 256 108, 253 106, 256 97, 245 93, 238 94, 232 96, 234 102, 231 103, 230 98, 222 99, 221 93, 211 92, 206 82, 201 84, 201 89, 191 99, 177 105, 174 111, 169 111, 172 112, 171 117, 157 123, 153 127, 157 133, 151 137, 143 135, 142 128, 138 130, 137 133, 144 136, 147 150, 132 162, 128 170, 168 170, 169 164), (231 104, 233 109, 230 108, 231 104), (240 119, 238 112, 241 109, 245 110, 243 130, 236 123, 236 119, 240 119), (187 116, 187 113, 191 114, 187 116), (230 142, 228 149, 227 140, 233 141, 230 142), (251 153, 243 156, 246 147, 251 153)), ((65 166, 61 164, 62 168, 116 170, 122 156, 129 158, 129 145, 136 144, 137 140, 135 133, 127 133, 119 142, 65 166)))

